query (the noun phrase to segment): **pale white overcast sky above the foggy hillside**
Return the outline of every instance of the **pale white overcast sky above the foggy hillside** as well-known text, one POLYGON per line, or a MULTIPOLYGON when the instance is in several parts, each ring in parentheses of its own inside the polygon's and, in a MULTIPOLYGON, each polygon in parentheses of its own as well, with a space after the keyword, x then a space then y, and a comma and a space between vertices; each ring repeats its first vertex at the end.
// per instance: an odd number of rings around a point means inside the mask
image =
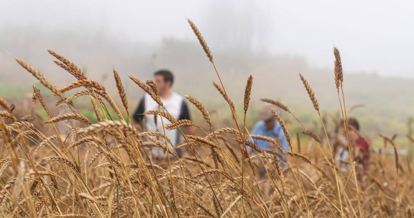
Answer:
POLYGON ((254 51, 303 56, 310 66, 333 68, 335 45, 346 72, 414 78, 412 1, 0 0, 0 28, 87 27, 133 41, 195 41, 186 17, 213 42, 213 53, 221 36, 226 44, 248 35, 254 51))

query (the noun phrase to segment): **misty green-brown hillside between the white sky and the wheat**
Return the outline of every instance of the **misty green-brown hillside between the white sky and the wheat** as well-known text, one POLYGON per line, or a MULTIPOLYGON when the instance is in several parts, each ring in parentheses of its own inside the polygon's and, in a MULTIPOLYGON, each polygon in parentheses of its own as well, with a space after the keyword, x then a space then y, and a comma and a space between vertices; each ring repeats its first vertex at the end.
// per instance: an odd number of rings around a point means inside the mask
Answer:
MULTIPOLYGON (((30 63, 58 86, 75 81, 72 75, 52 62, 53 57, 46 51, 52 49, 77 64, 89 78, 102 82, 115 97, 114 66, 123 79, 132 108, 142 92, 128 75, 147 80, 160 68, 170 69, 175 74, 174 89, 177 92, 192 94, 209 110, 220 109, 220 105, 224 105, 220 94, 211 85, 211 81, 218 82, 214 68, 201 46, 193 40, 165 38, 156 44, 125 40, 104 31, 84 30, 82 34, 65 29, 4 28, 2 31, 9 33, 0 35, 0 47, 4 49, 0 52, 0 75, 7 78, 7 82, 0 80, 0 95, 6 99, 22 97, 32 91, 31 84, 38 84, 15 63, 12 56, 30 63)), ((334 75, 330 69, 312 68, 300 56, 248 53, 237 49, 217 49, 215 52, 214 46, 210 49, 226 90, 236 104, 243 100, 246 80, 252 74, 253 110, 262 97, 277 99, 311 125, 316 114, 299 79, 298 73, 302 73, 315 91, 322 111, 339 110, 334 75)), ((333 54, 331 58, 333 65, 333 54)), ((365 104, 351 114, 361 120, 362 132, 370 136, 379 132, 403 136, 414 108, 410 99, 413 81, 347 72, 347 60, 342 62, 346 73, 344 92, 347 108, 365 104)))

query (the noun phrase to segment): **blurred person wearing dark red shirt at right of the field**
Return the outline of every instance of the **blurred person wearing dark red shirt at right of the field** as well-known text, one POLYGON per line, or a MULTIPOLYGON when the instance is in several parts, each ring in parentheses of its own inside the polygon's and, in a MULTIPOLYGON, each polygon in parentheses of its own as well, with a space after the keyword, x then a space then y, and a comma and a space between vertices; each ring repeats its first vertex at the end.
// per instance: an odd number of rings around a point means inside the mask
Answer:
MULTIPOLYGON (((369 155, 370 146, 368 142, 359 133, 359 122, 355 118, 348 119, 348 126, 349 126, 349 141, 354 150, 354 160, 358 163, 358 165, 361 165, 364 171, 366 171, 368 168, 368 161, 369 161, 369 156, 370 156, 369 155)), ((343 132, 345 135, 344 130, 343 132)), ((338 143, 343 148, 339 150, 348 150, 348 142, 346 138, 336 135, 335 143, 338 143)), ((342 155, 342 154, 338 154, 338 155, 342 155)))

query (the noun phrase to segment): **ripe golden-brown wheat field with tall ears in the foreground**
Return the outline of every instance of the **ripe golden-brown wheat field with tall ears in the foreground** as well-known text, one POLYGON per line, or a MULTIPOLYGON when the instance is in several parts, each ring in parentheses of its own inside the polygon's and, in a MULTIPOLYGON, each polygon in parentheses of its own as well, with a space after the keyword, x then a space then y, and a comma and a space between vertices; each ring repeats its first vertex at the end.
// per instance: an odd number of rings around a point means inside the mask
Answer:
MULTIPOLYGON (((44 128, 36 128, 33 122, 39 118, 15 115, 14 107, 18 105, 9 105, 5 97, 0 97, 1 217, 411 217, 412 163, 398 155, 394 138, 381 136, 385 146, 392 146, 394 155, 372 153, 368 170, 361 173, 361 167, 353 161, 359 154, 351 152, 347 162, 350 170, 343 171, 334 160, 336 149, 328 136, 333 130, 325 128, 318 96, 301 74, 298 82, 303 83, 303 94, 309 95, 323 134, 309 131, 293 111, 273 99, 261 100, 284 111, 282 116, 270 108, 282 126, 289 151, 280 149, 274 138, 250 134, 246 114, 253 76, 247 78, 246 84, 240 84, 246 86, 244 104, 242 108, 235 107, 205 39, 191 20, 188 23, 217 73, 219 82, 213 85, 227 102, 232 123, 216 125, 202 102, 190 95, 185 98, 199 111, 194 116, 200 117, 203 124, 177 121, 163 107, 154 82, 143 82, 131 75, 137 89, 159 104, 159 110, 146 114, 171 122, 164 129, 193 126, 200 133, 185 135, 180 129, 184 143, 178 147, 185 152, 178 157, 164 133, 140 131, 131 124, 123 81, 115 69, 117 98, 122 104, 116 104, 105 87, 88 79, 77 65, 55 51, 48 50, 56 58, 54 63, 76 79, 61 88, 16 58, 53 93, 56 106, 66 104, 70 111, 51 116, 50 104, 48 107, 41 90, 33 86, 33 104, 40 104, 49 118, 41 121, 44 128), (68 94, 75 88, 81 89, 68 94), (81 115, 72 102, 86 96, 97 123, 81 115), (109 111, 114 111, 116 117, 109 111), (284 122, 290 118, 301 126, 300 134, 308 137, 311 150, 300 149, 300 137, 290 133, 284 122), (59 127, 65 121, 71 124, 68 133, 62 133, 59 127), (252 138, 270 142, 272 149, 262 150, 251 142, 252 138), (152 147, 162 148, 170 155, 154 159, 152 147), (248 147, 253 152, 248 152, 248 147)), ((332 94, 337 95, 341 108, 337 122, 349 130, 342 91, 346 80, 337 48, 334 56, 332 82, 337 93, 332 94)))

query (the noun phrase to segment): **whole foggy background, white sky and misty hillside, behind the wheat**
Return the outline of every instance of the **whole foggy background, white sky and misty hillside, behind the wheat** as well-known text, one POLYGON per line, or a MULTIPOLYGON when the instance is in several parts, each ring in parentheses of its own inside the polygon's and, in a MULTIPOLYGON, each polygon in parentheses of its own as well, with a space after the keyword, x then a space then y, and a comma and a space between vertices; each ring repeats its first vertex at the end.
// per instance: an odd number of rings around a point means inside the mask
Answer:
POLYGON ((58 87, 75 81, 52 62, 46 51, 52 49, 112 96, 116 68, 131 108, 142 92, 128 75, 147 80, 167 68, 176 76, 174 90, 192 94, 208 110, 226 109, 211 85, 217 75, 188 26, 190 18, 235 104, 242 104, 246 79, 254 76, 251 113, 266 97, 310 123, 315 113, 298 73, 323 111, 339 111, 332 52, 337 46, 347 107, 365 104, 354 112, 365 133, 404 135, 414 108, 407 100, 414 91, 413 11, 413 3, 403 1, 2 1, 0 96, 13 102, 27 95, 31 102, 31 85, 43 87, 14 56, 58 87))

